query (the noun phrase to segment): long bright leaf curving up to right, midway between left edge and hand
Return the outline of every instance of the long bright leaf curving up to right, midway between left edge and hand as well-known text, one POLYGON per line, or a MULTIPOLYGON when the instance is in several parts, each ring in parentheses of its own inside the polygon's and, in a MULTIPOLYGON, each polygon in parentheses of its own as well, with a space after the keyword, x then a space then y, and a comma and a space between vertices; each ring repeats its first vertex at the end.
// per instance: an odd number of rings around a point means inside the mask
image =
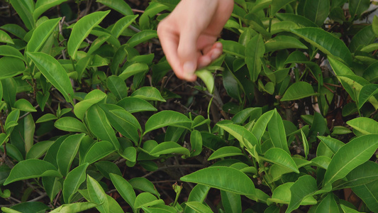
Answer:
POLYGON ((97 11, 80 18, 72 28, 70 39, 67 43, 67 53, 72 59, 77 59, 77 49, 79 49, 82 41, 87 38, 91 30, 97 26, 110 11, 97 11))

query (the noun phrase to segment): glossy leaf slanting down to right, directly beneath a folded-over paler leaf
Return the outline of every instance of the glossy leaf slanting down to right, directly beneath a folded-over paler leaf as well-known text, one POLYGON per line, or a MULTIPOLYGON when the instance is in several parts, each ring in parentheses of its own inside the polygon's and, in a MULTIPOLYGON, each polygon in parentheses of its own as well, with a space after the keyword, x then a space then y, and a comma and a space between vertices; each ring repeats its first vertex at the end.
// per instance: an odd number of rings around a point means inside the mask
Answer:
POLYGON ((87 112, 87 120, 91 133, 93 133, 97 138, 101 139, 101 141, 110 141, 113 143, 114 148, 119 148, 116 133, 114 133, 108 119, 106 119, 104 110, 97 105, 89 107, 87 112))

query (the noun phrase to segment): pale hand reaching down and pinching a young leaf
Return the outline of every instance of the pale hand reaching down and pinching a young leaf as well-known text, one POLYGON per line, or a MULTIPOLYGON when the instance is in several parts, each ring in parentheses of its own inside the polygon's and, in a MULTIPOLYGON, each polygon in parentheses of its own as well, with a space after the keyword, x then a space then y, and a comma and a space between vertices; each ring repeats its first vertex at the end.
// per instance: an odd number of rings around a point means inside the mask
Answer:
POLYGON ((182 0, 157 26, 162 49, 174 74, 194 82, 194 72, 222 54, 216 42, 233 11, 233 0, 182 0))

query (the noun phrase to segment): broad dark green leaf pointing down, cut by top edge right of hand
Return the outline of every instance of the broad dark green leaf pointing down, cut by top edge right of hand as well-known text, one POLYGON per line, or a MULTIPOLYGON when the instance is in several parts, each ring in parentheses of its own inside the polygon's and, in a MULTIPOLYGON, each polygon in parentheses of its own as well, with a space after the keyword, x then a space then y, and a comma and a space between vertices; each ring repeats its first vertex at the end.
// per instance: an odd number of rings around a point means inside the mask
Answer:
POLYGON ((328 13, 330 12, 330 0, 312 0, 306 1, 304 6, 304 16, 316 23, 318 26, 322 26, 328 13))

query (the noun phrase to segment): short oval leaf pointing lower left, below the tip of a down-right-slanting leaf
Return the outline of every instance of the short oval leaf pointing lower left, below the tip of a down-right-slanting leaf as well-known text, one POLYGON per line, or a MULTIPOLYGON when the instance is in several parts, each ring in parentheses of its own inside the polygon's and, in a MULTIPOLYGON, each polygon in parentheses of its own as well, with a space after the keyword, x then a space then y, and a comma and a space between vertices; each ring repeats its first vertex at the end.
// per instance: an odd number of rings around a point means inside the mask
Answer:
POLYGON ((97 160, 106 157, 110 153, 113 153, 114 151, 116 150, 114 150, 113 145, 109 141, 96 142, 85 154, 83 163, 92 164, 97 160))

